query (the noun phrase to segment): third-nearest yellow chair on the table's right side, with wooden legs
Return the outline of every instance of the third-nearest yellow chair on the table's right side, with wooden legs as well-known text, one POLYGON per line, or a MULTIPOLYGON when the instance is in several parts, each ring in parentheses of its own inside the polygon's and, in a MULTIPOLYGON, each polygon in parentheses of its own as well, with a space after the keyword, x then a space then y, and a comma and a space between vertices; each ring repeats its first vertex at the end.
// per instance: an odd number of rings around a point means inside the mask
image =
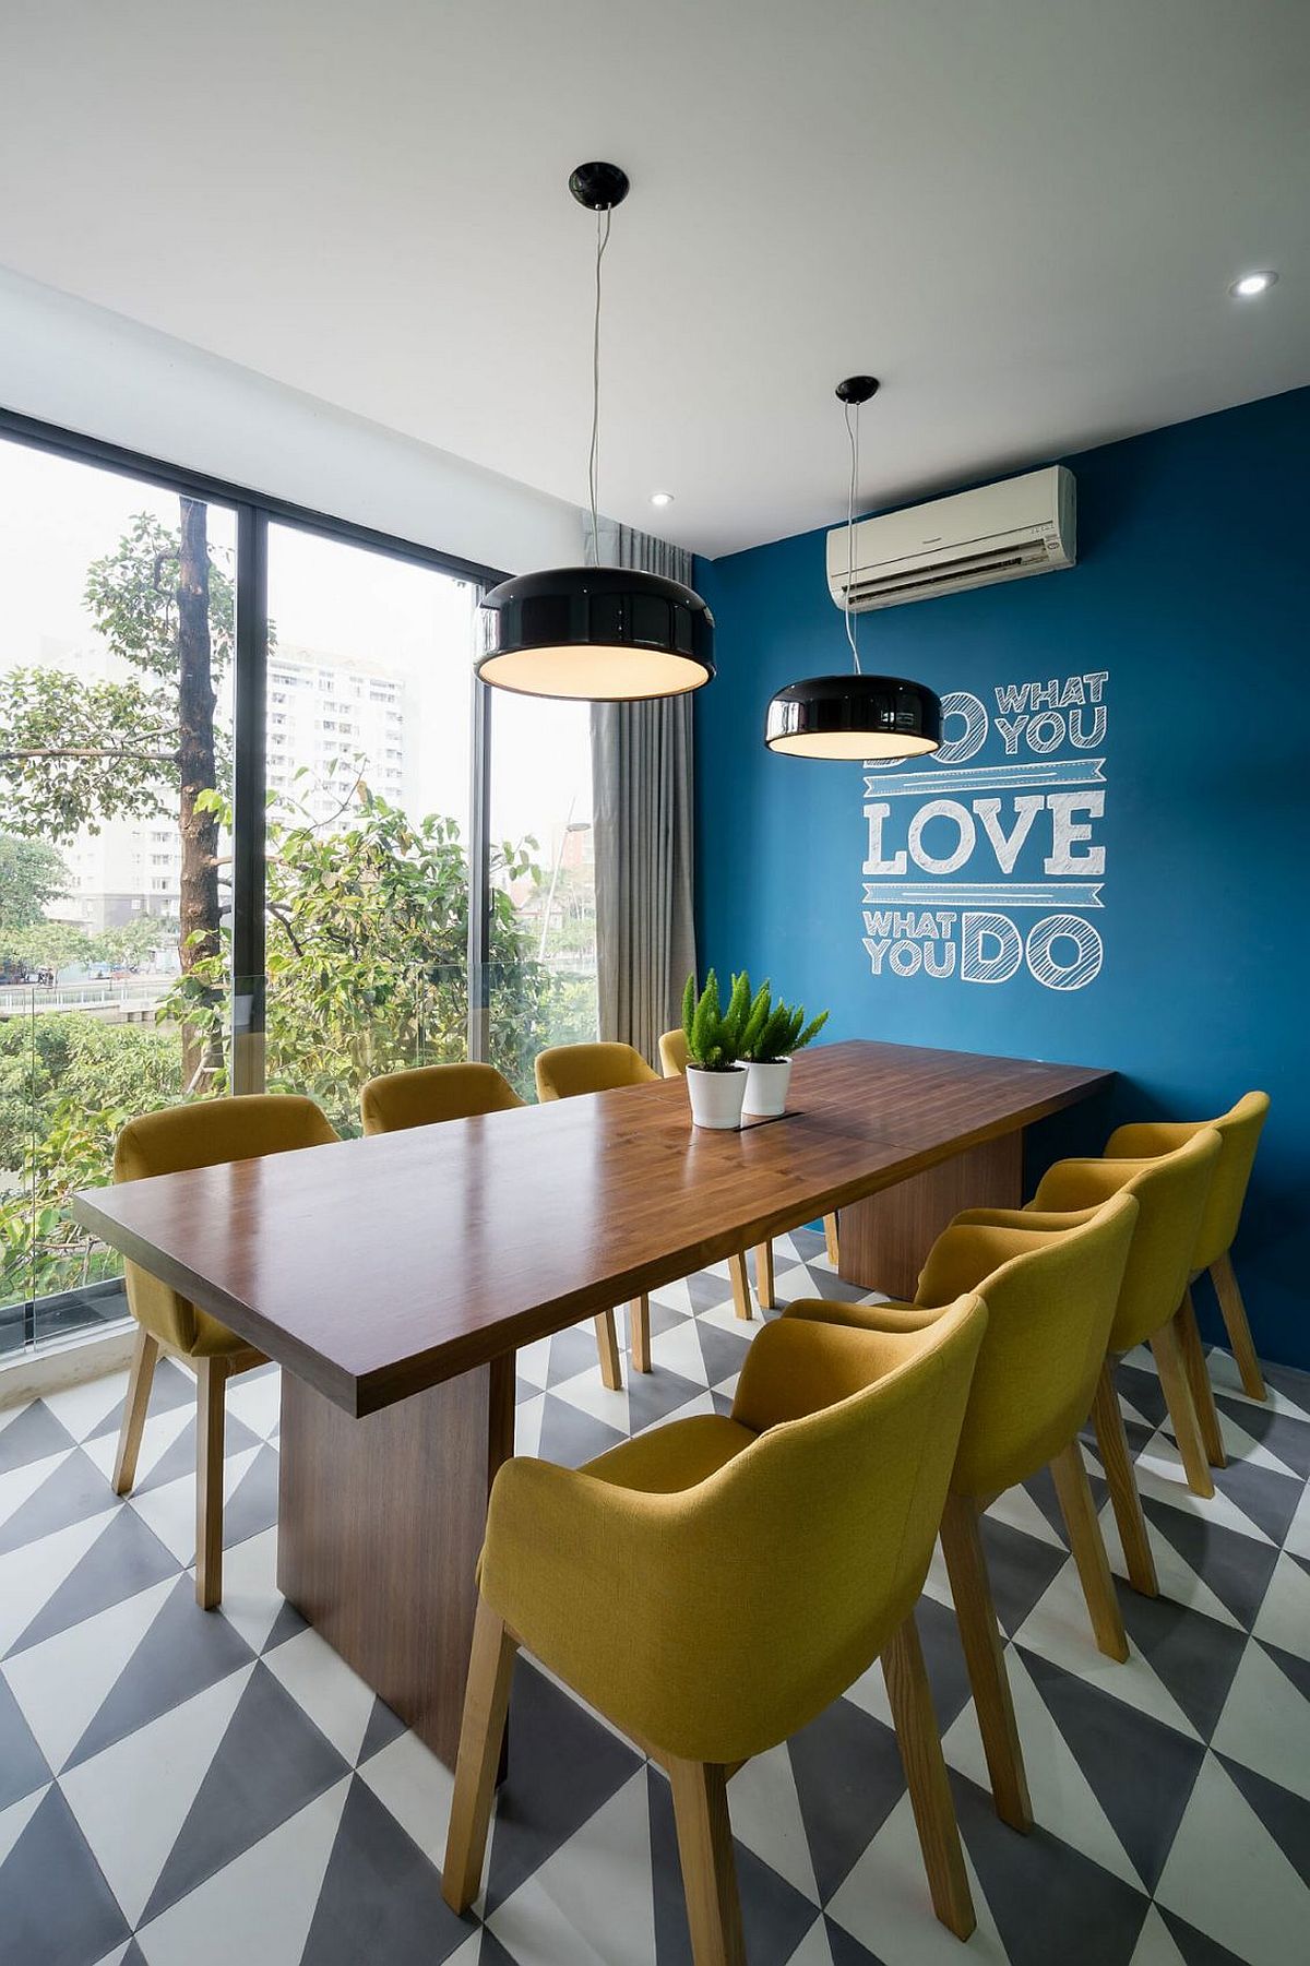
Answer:
POLYGON ((1147 1596, 1159 1590, 1155 1559, 1141 1514, 1133 1457, 1123 1433, 1123 1414, 1113 1384, 1113 1360, 1135 1345, 1151 1345, 1168 1406, 1178 1455, 1194 1494, 1214 1494, 1214 1467, 1225 1465, 1220 1416, 1206 1372, 1196 1315, 1188 1294, 1192 1252, 1208 1209, 1220 1134, 1202 1127, 1182 1146, 1155 1160, 1111 1158, 1058 1160, 1041 1180, 1027 1209, 974 1209, 968 1221, 1044 1223, 1060 1227, 1078 1211, 1127 1193, 1137 1201, 1137 1229, 1129 1250, 1109 1347, 1102 1364, 1092 1419, 1119 1524, 1119 1539, 1133 1585, 1147 1596))

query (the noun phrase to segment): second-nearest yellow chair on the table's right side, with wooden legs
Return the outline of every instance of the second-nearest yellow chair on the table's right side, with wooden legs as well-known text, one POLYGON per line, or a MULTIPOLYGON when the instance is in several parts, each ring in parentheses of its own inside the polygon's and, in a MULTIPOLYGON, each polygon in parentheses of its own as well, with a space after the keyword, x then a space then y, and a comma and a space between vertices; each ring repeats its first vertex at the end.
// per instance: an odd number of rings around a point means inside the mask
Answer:
POLYGON ((956 1219, 932 1244, 915 1303, 793 1303, 783 1321, 826 1319, 863 1331, 932 1329, 962 1292, 987 1305, 960 1451, 942 1516, 978 1728, 997 1813, 1033 1824, 980 1516, 1005 1488, 1050 1467, 1096 1644, 1127 1659, 1127 1634, 1078 1445, 1096 1394, 1127 1266, 1137 1201, 1113 1195, 1062 1227, 956 1219))

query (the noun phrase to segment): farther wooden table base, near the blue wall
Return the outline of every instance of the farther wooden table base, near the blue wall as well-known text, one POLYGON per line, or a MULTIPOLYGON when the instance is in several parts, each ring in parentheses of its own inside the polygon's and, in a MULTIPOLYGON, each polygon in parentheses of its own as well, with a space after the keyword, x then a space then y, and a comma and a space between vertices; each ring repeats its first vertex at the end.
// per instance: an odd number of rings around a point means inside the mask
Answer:
POLYGON ((1021 1205, 1023 1128, 1015 1128, 842 1209, 842 1276, 911 1300, 928 1250, 960 1209, 1021 1205))

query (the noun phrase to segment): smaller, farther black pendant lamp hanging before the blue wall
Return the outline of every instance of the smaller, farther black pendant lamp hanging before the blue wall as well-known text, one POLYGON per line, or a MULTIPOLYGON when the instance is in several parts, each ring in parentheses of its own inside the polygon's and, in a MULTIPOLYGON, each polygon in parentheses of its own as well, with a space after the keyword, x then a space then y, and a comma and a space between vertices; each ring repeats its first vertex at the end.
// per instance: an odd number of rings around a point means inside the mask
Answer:
POLYGON ((923 757, 942 741, 942 706, 923 682, 905 676, 865 676, 860 668, 850 586, 856 570, 856 484, 860 478, 860 405, 877 391, 873 376, 848 376, 836 387, 850 436, 850 499, 846 511, 846 594, 842 613, 852 666, 836 676, 806 676, 779 690, 765 718, 765 743, 789 757, 893 759, 923 757), (854 421, 852 421, 854 409, 854 421))

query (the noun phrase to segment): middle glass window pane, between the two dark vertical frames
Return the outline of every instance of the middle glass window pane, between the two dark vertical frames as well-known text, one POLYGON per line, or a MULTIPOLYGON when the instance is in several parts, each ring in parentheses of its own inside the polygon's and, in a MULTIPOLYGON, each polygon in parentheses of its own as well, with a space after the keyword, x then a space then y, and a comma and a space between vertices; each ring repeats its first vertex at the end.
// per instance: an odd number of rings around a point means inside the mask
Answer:
POLYGON ((340 1132, 368 1077, 468 1054, 476 598, 269 527, 266 1077, 340 1132))

